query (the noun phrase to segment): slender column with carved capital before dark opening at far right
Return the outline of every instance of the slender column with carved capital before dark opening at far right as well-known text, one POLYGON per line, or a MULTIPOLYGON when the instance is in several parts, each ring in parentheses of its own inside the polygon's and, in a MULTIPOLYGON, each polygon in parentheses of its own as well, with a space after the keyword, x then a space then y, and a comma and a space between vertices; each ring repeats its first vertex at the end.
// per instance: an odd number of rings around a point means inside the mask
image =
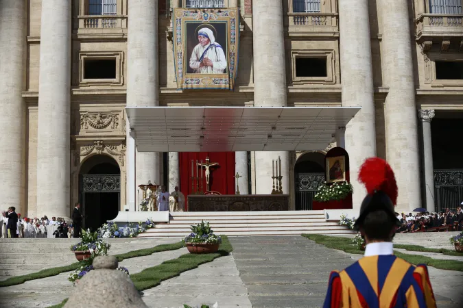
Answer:
POLYGON ((434 204, 434 164, 432 160, 431 120, 434 110, 418 110, 418 117, 423 121, 423 157, 425 161, 426 209, 429 213, 436 210, 434 204))

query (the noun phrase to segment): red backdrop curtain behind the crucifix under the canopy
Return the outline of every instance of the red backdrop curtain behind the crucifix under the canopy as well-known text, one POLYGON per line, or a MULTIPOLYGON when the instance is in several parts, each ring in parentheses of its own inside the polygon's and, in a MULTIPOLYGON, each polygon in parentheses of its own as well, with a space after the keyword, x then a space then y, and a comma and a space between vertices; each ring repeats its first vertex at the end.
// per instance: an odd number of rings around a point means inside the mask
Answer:
MULTIPOLYGON (((209 157, 210 163, 218 163, 218 166, 213 166, 209 170, 209 190, 219 192, 221 194, 235 194, 235 152, 182 152, 179 153, 180 165, 180 191, 187 197, 193 194, 191 188, 191 177, 196 177, 196 169, 193 168, 194 175, 191 175, 191 160, 196 164, 196 160, 206 162, 206 157, 209 157)), ((204 167, 202 168, 202 187, 203 192, 206 190, 206 177, 204 175, 204 167)))

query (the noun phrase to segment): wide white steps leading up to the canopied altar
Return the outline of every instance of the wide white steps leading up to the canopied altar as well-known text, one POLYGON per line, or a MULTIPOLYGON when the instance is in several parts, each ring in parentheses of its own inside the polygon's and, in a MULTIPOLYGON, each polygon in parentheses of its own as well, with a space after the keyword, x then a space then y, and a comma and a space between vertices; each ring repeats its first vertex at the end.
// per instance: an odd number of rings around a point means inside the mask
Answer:
POLYGON ((209 221, 220 235, 349 234, 337 222, 327 222, 324 211, 175 212, 168 224, 156 224, 139 238, 184 237, 192 224, 209 221))

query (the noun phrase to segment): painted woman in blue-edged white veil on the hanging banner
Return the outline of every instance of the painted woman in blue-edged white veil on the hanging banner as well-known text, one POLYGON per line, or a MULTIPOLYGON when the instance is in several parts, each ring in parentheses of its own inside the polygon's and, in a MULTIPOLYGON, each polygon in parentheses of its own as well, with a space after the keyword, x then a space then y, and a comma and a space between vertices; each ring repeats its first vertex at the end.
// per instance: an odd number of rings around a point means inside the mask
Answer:
POLYGON ((190 57, 190 67, 196 74, 226 73, 226 57, 224 49, 218 42, 211 29, 206 27, 198 31, 199 44, 195 46, 190 57))

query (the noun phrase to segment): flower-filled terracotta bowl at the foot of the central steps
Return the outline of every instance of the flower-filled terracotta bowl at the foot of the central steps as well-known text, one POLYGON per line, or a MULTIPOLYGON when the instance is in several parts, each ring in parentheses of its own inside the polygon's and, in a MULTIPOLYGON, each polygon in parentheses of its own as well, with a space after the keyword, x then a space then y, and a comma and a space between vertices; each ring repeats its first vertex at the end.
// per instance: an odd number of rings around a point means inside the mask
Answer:
POLYGON ((191 226, 191 233, 185 237, 185 244, 190 253, 216 253, 222 238, 213 233, 209 222, 191 226))

